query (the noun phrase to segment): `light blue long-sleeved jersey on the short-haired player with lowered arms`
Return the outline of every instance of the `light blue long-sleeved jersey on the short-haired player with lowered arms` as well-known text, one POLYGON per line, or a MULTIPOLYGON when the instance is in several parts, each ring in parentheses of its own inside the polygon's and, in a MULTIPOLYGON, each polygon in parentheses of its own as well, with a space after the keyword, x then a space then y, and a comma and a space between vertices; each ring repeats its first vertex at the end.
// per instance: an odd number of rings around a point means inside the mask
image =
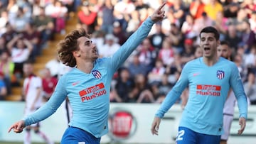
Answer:
POLYGON ((188 102, 179 126, 190 128, 198 133, 221 135, 223 106, 230 87, 238 99, 240 117, 247 118, 247 98, 238 67, 234 62, 223 57, 220 57, 211 67, 203 62, 203 57, 187 62, 181 77, 167 94, 156 116, 163 118, 164 113, 175 104, 186 87, 189 89, 188 102))

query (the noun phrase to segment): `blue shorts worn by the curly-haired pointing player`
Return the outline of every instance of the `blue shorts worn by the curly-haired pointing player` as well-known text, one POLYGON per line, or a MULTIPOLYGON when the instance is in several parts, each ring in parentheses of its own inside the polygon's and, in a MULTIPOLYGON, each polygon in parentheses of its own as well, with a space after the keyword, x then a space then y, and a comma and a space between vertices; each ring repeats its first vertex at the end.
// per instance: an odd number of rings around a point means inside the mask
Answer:
POLYGON ((68 127, 60 144, 100 144, 100 138, 80 128, 68 127))

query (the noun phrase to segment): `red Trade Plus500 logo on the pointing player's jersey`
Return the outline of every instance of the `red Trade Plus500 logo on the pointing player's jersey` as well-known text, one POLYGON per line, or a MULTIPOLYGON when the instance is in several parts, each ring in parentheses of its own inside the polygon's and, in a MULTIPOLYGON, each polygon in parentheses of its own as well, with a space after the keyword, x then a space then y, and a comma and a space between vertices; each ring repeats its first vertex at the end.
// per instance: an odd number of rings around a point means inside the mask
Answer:
POLYGON ((79 92, 82 102, 95 99, 96 97, 102 96, 103 94, 107 94, 103 83, 96 84, 95 86, 88 87, 86 89, 82 89, 82 91, 79 92))

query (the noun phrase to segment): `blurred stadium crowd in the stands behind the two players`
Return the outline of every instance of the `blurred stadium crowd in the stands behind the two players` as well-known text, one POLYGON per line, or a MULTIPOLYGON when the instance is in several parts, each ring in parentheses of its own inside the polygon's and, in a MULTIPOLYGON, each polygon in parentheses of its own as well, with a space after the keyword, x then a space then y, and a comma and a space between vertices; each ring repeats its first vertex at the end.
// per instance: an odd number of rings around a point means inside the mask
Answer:
MULTIPOLYGON (((183 65, 201 57, 198 33, 205 26, 220 31, 229 43, 245 92, 256 104, 256 1, 167 0, 166 18, 156 23, 148 38, 133 52, 112 80, 110 101, 161 103, 176 83, 183 65)), ((0 87, 11 87, 23 77, 22 65, 36 60, 55 33, 65 34, 65 21, 77 14, 77 28, 92 35, 100 57, 111 56, 162 0, 1 0, 0 87)), ((53 60, 58 65, 58 57, 53 60)), ((55 67, 51 65, 51 67, 55 67)), ((57 77, 53 72, 47 77, 57 77)), ((55 83, 54 83, 55 84, 55 83)), ((177 101, 182 105, 188 89, 177 101)), ((1 96, 3 95, 3 96, 1 96)), ((49 97, 49 95, 48 95, 49 97)))

